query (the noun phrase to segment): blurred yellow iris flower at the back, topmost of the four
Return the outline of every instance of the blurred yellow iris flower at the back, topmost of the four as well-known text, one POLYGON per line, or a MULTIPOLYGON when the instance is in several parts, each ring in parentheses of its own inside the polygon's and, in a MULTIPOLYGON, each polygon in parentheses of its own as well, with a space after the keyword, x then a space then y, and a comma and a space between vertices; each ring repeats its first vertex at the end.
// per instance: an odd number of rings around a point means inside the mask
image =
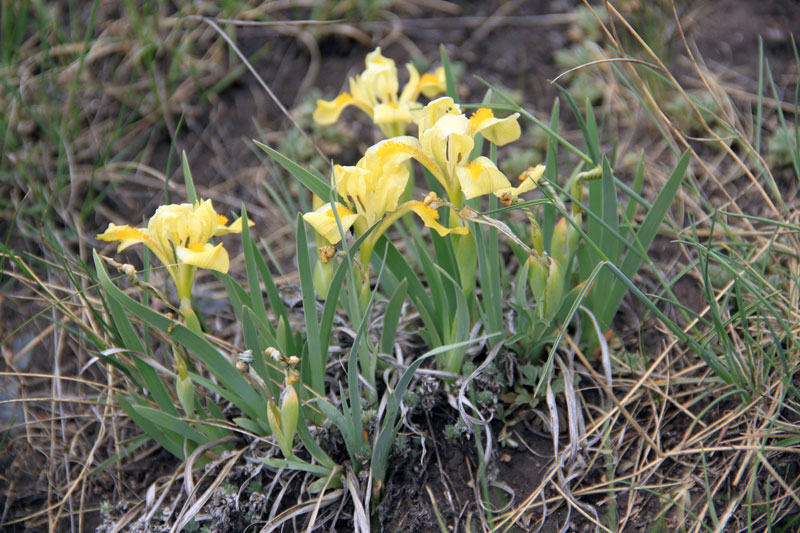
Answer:
POLYGON ((317 100, 314 120, 320 124, 333 124, 342 111, 355 106, 366 113, 378 125, 386 137, 402 135, 410 122, 416 122, 422 104, 417 102, 420 94, 432 98, 445 91, 444 69, 420 76, 419 71, 408 63, 408 83, 398 91, 397 67, 393 59, 384 57, 380 47, 367 54, 366 69, 350 78, 350 92, 340 94, 334 100, 317 100))

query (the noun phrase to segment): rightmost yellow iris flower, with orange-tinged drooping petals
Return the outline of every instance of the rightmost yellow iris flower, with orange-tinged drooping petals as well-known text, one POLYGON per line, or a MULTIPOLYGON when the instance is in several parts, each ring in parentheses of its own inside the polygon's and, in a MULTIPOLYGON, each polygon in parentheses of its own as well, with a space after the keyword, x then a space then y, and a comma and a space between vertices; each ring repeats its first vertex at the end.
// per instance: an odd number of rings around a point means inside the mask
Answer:
POLYGON ((419 121, 419 138, 402 136, 381 141, 367 150, 367 157, 402 162, 416 159, 430 171, 450 201, 461 207, 467 199, 511 187, 502 172, 487 157, 469 161, 475 136, 502 146, 520 136, 519 113, 497 118, 491 109, 481 108, 469 118, 452 98, 438 98, 426 105, 419 121))

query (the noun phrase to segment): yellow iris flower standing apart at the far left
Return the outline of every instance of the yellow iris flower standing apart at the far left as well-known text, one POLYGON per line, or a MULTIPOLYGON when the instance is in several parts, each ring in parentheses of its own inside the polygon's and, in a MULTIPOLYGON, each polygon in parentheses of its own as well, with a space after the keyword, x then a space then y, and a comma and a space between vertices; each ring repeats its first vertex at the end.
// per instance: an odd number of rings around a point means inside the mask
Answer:
POLYGON ((198 268, 223 274, 228 272, 228 252, 222 244, 214 246, 208 241, 212 237, 241 231, 241 219, 229 225, 227 218, 214 211, 211 200, 205 200, 194 205, 162 205, 150 217, 146 228, 111 223, 97 238, 107 242, 119 241, 118 252, 133 244, 147 246, 167 268, 183 301, 191 297, 198 268))

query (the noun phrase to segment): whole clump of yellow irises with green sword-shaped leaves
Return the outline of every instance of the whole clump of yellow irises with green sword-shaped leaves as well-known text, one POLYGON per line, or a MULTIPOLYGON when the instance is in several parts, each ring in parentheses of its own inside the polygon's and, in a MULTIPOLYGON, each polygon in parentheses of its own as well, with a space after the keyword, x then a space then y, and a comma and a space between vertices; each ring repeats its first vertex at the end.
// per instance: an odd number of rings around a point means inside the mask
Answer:
MULTIPOLYGON (((312 494, 366 491, 366 517, 380 502, 390 455, 406 447, 395 445, 401 404, 426 365, 459 405, 448 439, 466 433, 480 449, 492 440, 482 411, 511 414, 546 397, 558 451, 555 394, 565 397, 571 418, 580 416, 572 361, 560 350, 565 330, 582 329, 583 348, 605 354, 609 368, 606 331, 687 158, 653 204, 638 200, 648 214, 634 225, 635 207, 620 219, 618 182, 600 153, 591 107, 580 114, 569 102, 584 134, 581 150, 558 132, 558 102, 548 125, 510 100, 460 104, 454 87, 444 52, 435 71, 420 74, 407 65, 401 87, 394 61, 377 49, 350 90, 319 99, 313 113, 320 124, 341 120, 347 107, 370 117, 385 139, 355 164, 335 161, 325 177, 257 143, 313 196, 313 210, 292 221, 304 308, 299 330, 254 238, 266 231, 265 221, 251 220, 243 205, 230 222, 200 200, 185 157, 187 203, 162 205, 145 228, 112 223, 98 235, 119 242, 117 251, 145 244, 145 265, 154 256, 160 265, 152 268, 165 269, 177 290, 172 301, 131 265, 95 253, 106 312, 124 349, 105 359, 128 378, 118 400, 148 437, 198 465, 233 449, 237 435, 266 439, 273 444, 266 466, 303 473, 312 494), (507 176, 497 147, 516 141, 522 125, 546 137, 544 161, 507 176), (575 168, 558 168, 563 147, 577 156, 575 168), (242 236, 244 284, 230 276, 223 245, 211 242, 229 233, 242 236), (107 265, 122 279, 112 278, 107 265), (224 286, 243 346, 219 344, 194 305, 200 269, 224 286), (124 283, 130 290, 120 288, 124 283), (159 301, 155 308, 152 299, 159 301), (425 349, 392 362, 409 306, 425 349), (375 313, 382 317, 377 336, 368 328, 375 313), (355 336, 338 347, 345 379, 330 382, 339 317, 355 336), (497 375, 486 369, 496 369, 500 353, 511 354, 525 376, 511 389, 501 377, 479 379, 497 375), (509 403, 498 405, 498 396, 509 403), (334 460, 341 450, 326 449, 321 438, 333 428, 346 461, 334 460)), ((579 446, 577 426, 570 431, 571 445, 579 446)))

